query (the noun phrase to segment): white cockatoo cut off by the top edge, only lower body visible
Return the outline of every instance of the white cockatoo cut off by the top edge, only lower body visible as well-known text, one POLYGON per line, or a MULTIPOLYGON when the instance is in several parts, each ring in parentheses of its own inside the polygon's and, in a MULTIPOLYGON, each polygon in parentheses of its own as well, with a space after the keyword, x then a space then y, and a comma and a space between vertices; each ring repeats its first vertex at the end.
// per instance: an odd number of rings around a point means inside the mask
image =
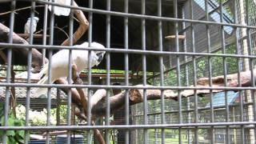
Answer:
MULTIPOLYGON (((50 0, 50 2, 53 2, 53 0, 50 0)), ((71 6, 71 0, 54 0, 54 3, 71 6)), ((51 10, 51 5, 48 6, 48 9, 51 10)), ((70 15, 70 8, 54 6, 54 14, 68 16, 70 15)))

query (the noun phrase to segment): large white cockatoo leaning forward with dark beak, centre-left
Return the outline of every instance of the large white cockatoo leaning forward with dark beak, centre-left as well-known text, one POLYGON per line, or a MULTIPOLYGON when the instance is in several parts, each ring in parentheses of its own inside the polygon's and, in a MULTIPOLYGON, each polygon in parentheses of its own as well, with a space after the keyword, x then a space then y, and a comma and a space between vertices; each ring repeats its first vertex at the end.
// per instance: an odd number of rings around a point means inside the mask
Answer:
MULTIPOLYGON (((83 69, 90 68, 88 67, 88 42, 84 42, 81 45, 76 45, 76 47, 83 47, 85 50, 72 50, 72 60, 71 64, 77 66, 78 73, 80 74, 83 69)), ((105 48, 102 44, 97 42, 91 42, 90 47, 93 48, 105 48)), ((68 63, 69 63, 69 53, 70 50, 60 50, 58 53, 52 56, 51 63, 51 78, 50 84, 56 81, 58 78, 66 78, 68 76, 68 63)), ((104 57, 105 51, 96 51, 91 50, 91 66, 98 66, 104 57)), ((48 82, 48 63, 43 66, 39 75, 42 75, 41 80, 38 84, 46 84, 48 82)), ((38 88, 38 91, 35 94, 38 96, 46 94, 47 88, 38 88)))

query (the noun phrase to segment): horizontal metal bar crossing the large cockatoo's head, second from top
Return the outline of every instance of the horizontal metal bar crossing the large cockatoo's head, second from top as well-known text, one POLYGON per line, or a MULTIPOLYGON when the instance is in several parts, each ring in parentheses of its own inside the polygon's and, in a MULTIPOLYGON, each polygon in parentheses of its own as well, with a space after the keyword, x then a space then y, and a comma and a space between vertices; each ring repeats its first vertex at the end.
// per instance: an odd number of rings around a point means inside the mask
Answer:
POLYGON ((155 50, 131 50, 122 48, 94 48, 94 47, 75 47, 75 46, 50 46, 50 45, 20 45, 0 42, 0 46, 10 48, 36 48, 46 50, 97 50, 112 53, 126 53, 126 54, 152 54, 152 55, 190 55, 190 56, 206 56, 206 57, 222 57, 222 58, 256 58, 256 55, 242 55, 242 54, 209 54, 209 53, 192 53, 192 52, 174 52, 174 51, 155 51, 155 50))

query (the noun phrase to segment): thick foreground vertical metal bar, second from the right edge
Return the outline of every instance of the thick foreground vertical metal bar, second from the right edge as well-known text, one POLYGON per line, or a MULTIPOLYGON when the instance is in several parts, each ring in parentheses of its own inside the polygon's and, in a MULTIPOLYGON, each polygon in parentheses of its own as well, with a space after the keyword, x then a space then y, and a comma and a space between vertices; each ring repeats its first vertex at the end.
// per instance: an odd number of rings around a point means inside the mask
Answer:
MULTIPOLYGON (((234 0, 234 23, 238 24, 238 3, 237 0, 234 0)), ((238 27, 234 27, 234 38, 235 38, 235 47, 236 47, 236 54, 241 54, 241 46, 239 45, 239 41, 238 41, 238 37, 239 37, 239 31, 238 31, 238 27)), ((241 58, 237 59, 238 62, 238 87, 241 87, 241 58)), ((239 90, 238 91, 239 94, 239 98, 240 98, 240 103, 239 103, 239 108, 240 108, 240 121, 243 122, 244 121, 244 117, 243 117, 243 94, 242 91, 239 90)), ((244 126, 241 126, 241 143, 245 143, 245 128, 244 126)))

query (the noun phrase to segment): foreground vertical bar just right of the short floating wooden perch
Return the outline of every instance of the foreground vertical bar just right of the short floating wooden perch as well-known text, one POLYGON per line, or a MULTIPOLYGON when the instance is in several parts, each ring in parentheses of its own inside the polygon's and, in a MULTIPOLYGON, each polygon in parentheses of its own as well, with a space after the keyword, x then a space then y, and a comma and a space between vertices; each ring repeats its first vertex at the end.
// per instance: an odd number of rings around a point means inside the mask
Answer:
MULTIPOLYGON (((194 1, 190 0, 190 18, 194 19, 194 1)), ((192 52, 195 53, 195 46, 194 46, 194 24, 190 23, 190 29, 191 29, 191 46, 192 46, 192 52)), ((196 58, 192 57, 193 62, 193 85, 197 86, 197 70, 196 70, 196 58)), ((194 90, 194 122, 198 123, 198 94, 197 90, 194 90)), ((194 129, 194 143, 198 143, 198 127, 195 126, 194 129)))

